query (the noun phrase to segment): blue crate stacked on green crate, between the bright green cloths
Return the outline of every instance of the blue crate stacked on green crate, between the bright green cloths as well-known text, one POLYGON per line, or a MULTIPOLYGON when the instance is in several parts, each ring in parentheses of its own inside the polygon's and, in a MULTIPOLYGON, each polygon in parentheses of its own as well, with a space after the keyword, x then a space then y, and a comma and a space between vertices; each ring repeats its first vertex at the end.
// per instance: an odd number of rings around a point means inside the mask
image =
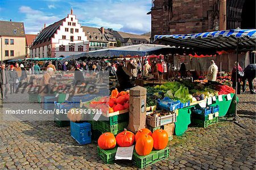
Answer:
POLYGON ((192 109, 192 124, 198 127, 208 127, 218 122, 219 106, 192 109))

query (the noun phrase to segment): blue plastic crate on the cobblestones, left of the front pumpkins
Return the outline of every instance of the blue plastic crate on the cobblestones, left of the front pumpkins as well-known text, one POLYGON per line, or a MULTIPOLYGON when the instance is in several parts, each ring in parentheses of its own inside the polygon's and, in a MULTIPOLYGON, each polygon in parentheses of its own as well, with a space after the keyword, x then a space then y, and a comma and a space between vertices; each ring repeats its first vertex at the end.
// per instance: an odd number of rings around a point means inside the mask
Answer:
POLYGON ((75 123, 71 121, 70 131, 72 138, 80 145, 92 142, 92 130, 90 128, 90 123, 75 123))

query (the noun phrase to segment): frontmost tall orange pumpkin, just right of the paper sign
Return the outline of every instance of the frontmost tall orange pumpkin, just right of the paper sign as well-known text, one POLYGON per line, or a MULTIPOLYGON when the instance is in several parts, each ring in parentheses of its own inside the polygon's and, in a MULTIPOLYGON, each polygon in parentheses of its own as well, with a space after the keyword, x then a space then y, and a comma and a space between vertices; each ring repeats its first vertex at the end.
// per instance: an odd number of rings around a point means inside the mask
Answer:
POLYGON ((154 140, 150 135, 142 134, 135 144, 135 151, 140 156, 150 154, 153 149, 154 140))

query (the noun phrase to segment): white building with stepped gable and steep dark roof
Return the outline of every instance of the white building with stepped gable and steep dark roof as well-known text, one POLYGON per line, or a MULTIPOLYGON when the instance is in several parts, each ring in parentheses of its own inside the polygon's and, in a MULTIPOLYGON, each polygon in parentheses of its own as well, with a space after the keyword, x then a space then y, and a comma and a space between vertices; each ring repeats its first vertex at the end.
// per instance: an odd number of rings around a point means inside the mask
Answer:
POLYGON ((30 48, 32 57, 65 57, 89 51, 89 41, 76 18, 71 14, 48 27, 44 25, 30 48))

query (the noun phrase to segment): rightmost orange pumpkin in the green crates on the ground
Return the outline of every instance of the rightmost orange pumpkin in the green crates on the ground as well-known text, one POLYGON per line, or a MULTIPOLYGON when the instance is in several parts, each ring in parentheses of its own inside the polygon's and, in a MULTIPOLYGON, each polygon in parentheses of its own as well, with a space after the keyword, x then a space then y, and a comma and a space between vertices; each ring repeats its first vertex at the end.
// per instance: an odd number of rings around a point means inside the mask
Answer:
POLYGON ((154 139, 154 149, 163 150, 168 144, 168 133, 165 130, 158 129, 152 133, 154 139))

